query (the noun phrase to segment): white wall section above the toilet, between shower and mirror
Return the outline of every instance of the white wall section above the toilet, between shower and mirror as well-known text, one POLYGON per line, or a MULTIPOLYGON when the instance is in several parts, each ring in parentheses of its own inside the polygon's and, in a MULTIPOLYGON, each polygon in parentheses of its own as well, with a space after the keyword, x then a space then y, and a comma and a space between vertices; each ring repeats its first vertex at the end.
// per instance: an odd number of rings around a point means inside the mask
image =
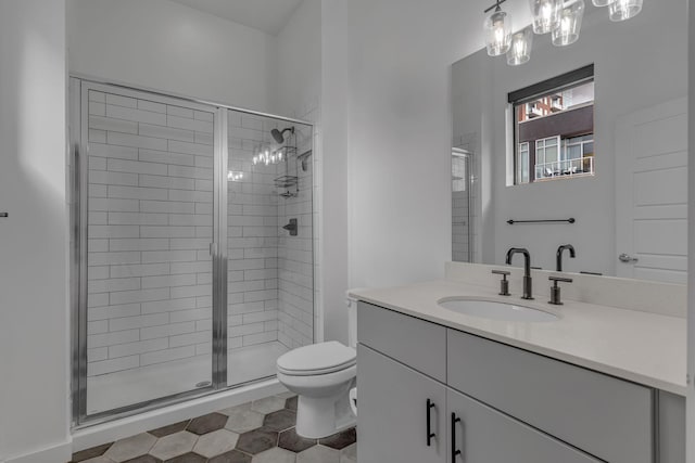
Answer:
POLYGON ((451 259, 450 65, 477 47, 460 26, 469 9, 459 0, 349 2, 353 286, 442 276, 451 259))

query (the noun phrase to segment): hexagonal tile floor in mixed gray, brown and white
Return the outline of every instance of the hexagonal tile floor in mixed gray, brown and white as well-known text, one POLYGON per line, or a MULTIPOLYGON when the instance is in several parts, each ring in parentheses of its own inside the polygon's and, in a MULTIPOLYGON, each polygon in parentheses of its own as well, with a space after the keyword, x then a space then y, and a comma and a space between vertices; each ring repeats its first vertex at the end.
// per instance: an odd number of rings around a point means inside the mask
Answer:
POLYGON ((324 439, 294 430, 296 396, 280 394, 73 454, 70 463, 356 463, 355 428, 324 439))

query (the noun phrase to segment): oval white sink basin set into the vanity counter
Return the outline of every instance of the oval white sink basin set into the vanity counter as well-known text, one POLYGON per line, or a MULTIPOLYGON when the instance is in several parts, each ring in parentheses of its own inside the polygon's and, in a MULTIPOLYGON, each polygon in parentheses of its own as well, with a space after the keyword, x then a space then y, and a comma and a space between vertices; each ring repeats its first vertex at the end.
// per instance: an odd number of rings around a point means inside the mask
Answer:
POLYGON ((558 319, 557 316, 543 310, 492 300, 450 299, 443 300, 439 305, 446 310, 491 320, 552 322, 558 319))

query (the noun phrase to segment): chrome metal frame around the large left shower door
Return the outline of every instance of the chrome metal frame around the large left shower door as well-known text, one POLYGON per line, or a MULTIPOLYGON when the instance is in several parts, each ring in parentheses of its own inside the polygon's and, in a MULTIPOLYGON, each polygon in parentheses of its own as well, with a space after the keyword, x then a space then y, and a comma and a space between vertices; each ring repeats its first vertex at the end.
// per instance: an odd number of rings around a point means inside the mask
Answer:
POLYGON ((72 249, 73 269, 72 294, 73 299, 73 428, 91 426, 115 419, 142 413, 197 397, 214 394, 227 388, 227 110, 220 106, 201 103, 190 99, 168 97, 147 90, 103 83, 84 78, 71 77, 71 115, 70 137, 71 156, 74 166, 73 175, 73 206, 72 229, 74 230, 74 247, 72 249), (203 111, 214 115, 213 137, 213 239, 211 243, 211 268, 213 274, 212 298, 212 352, 211 378, 212 384, 206 387, 160 397, 143 402, 132 403, 96 414, 87 413, 87 244, 88 244, 88 214, 89 188, 88 171, 88 120, 89 120, 89 90, 113 93, 123 97, 147 99, 162 104, 172 104, 195 111, 203 111), (84 128, 84 130, 83 130, 84 128), (76 306, 76 307, 75 307, 76 306))

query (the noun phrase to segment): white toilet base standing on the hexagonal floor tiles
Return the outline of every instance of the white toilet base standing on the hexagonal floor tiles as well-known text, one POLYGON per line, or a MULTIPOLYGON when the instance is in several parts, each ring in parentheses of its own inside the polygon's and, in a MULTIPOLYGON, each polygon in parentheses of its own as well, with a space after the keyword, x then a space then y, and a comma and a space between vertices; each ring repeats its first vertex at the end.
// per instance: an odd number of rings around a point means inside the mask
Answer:
POLYGON ((320 439, 353 427, 356 416, 350 408, 349 384, 338 398, 299 396, 296 404, 296 434, 308 439, 320 439))

